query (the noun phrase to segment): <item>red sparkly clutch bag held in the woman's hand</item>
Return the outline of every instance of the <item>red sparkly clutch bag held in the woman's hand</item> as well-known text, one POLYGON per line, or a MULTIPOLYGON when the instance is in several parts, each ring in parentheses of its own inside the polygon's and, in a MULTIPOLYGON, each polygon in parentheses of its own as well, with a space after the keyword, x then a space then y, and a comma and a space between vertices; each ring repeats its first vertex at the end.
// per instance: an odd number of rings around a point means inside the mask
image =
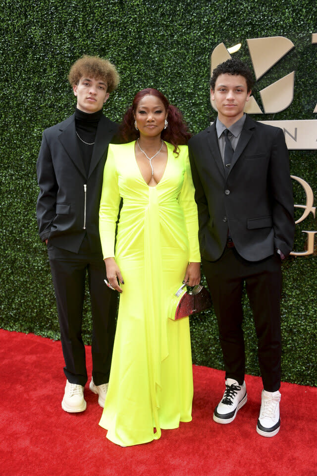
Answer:
POLYGON ((204 286, 195 286, 191 291, 187 291, 183 284, 173 295, 168 317, 173 321, 182 319, 182 317, 196 314, 211 307, 211 296, 204 286))

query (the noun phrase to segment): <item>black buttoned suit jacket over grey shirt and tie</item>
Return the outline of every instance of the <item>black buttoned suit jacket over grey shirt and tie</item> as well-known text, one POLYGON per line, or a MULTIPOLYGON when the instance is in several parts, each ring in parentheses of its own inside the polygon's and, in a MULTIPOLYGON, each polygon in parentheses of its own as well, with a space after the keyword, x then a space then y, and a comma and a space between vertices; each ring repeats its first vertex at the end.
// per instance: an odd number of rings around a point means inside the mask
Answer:
POLYGON ((199 215, 201 254, 217 260, 228 228, 236 250, 259 261, 280 249, 292 250, 294 202, 283 131, 245 120, 226 176, 215 122, 189 141, 199 215))

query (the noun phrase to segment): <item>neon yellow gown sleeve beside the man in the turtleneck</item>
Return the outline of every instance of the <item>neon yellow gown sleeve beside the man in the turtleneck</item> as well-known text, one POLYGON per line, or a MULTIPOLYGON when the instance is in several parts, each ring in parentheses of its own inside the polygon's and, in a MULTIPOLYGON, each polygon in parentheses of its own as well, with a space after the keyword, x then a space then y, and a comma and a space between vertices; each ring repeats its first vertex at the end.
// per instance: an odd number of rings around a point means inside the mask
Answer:
POLYGON ((118 173, 113 150, 115 147, 118 146, 109 144, 99 209, 99 233, 104 259, 114 257, 115 227, 120 205, 118 173))

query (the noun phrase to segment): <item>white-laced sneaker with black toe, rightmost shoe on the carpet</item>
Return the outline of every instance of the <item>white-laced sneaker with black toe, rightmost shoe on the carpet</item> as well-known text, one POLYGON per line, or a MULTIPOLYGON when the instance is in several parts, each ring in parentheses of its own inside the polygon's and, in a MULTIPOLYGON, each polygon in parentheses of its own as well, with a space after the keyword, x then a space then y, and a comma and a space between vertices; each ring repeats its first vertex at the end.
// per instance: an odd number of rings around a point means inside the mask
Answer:
POLYGON ((279 417, 279 402, 281 394, 262 390, 262 402, 260 416, 257 424, 257 432, 262 436, 274 436, 279 432, 281 425, 279 417))

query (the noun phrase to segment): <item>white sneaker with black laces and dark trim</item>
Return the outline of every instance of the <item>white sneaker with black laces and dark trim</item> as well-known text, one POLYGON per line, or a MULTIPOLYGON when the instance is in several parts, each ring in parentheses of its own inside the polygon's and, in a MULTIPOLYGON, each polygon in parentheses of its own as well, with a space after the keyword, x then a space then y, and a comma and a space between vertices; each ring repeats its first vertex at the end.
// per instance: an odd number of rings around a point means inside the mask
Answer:
POLYGON ((247 402, 246 384, 239 385, 233 378, 225 381, 226 389, 221 402, 213 412, 213 419, 217 423, 231 423, 237 415, 238 410, 247 402))

